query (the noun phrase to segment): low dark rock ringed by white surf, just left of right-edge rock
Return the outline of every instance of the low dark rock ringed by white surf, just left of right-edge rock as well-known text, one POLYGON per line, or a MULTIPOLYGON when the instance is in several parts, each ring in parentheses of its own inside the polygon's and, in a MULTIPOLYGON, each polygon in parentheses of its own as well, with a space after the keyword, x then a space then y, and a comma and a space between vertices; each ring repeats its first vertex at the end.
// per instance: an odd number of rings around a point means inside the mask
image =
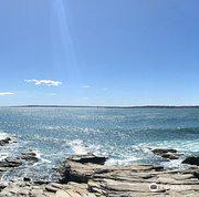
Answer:
POLYGON ((153 149, 153 153, 168 159, 178 159, 180 157, 180 154, 178 154, 176 149, 169 148, 155 148, 153 149))

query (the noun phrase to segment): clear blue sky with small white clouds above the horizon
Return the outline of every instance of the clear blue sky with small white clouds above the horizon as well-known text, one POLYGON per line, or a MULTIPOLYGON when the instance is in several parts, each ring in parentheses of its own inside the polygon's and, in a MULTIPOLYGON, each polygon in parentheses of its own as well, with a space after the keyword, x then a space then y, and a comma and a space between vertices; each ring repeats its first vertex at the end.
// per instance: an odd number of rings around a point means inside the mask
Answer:
POLYGON ((0 105, 199 104, 198 0, 0 0, 0 105))

